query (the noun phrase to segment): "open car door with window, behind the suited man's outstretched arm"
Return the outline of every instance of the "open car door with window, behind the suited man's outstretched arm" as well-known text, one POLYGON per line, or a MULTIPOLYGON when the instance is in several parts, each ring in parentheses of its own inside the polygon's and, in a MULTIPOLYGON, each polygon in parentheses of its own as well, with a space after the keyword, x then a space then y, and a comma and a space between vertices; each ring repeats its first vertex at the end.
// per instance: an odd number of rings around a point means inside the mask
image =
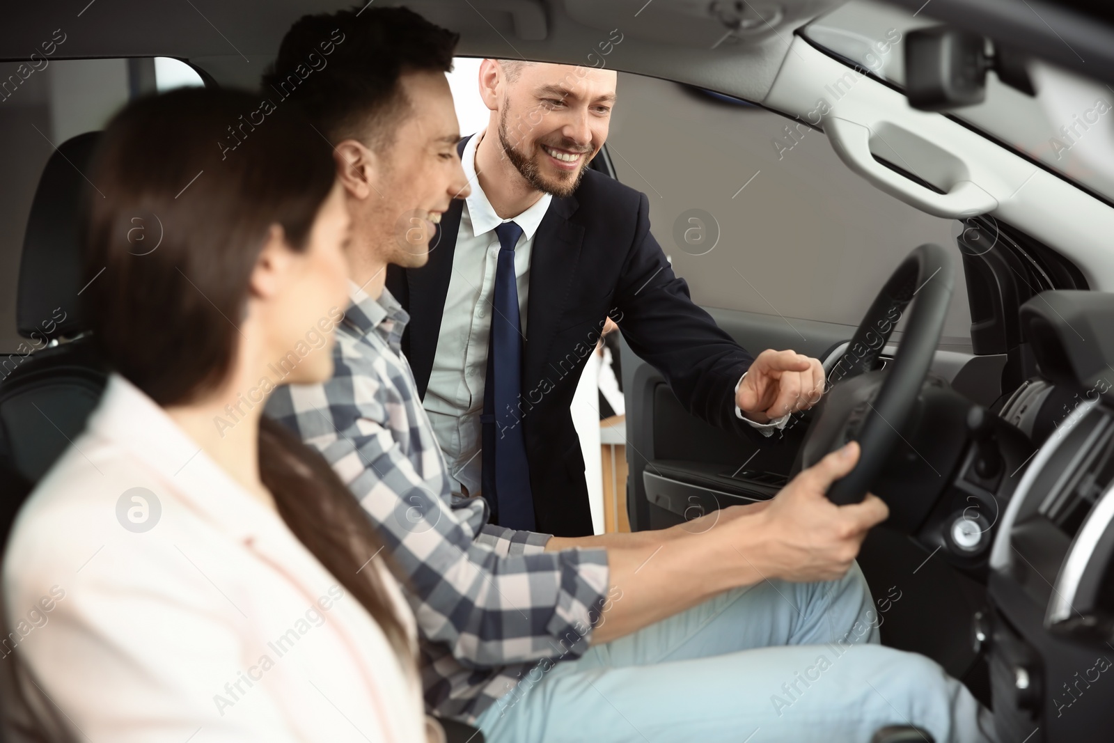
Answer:
MULTIPOLYGON (((786 135, 786 119, 760 107, 633 75, 618 90, 608 141, 617 177, 647 194, 674 271, 743 348, 793 349, 832 365, 889 274, 935 242, 954 246, 957 268, 936 371, 967 381, 959 372, 975 354, 958 223, 880 193, 822 133, 786 135), (674 140, 683 153, 663 153, 674 140)), ((766 498, 784 483, 809 416, 754 446, 690 416, 655 369, 623 353, 634 529, 766 498)), ((981 363, 993 380, 1004 360, 981 363)), ((986 405, 1000 394, 994 383, 969 392, 986 405)))

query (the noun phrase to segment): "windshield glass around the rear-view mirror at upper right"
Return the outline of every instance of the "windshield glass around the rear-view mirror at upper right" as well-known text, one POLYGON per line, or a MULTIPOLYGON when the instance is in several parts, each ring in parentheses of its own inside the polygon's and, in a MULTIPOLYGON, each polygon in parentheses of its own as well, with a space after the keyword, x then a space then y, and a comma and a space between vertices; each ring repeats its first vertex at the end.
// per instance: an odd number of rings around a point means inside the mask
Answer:
MULTIPOLYGON (((898 40, 937 26, 924 14, 872 0, 852 0, 804 28, 813 43, 905 85, 905 50, 898 40)), ((1114 90, 1052 65, 1030 60, 1036 97, 986 78, 986 99, 949 114, 1001 144, 1114 201, 1114 90)))

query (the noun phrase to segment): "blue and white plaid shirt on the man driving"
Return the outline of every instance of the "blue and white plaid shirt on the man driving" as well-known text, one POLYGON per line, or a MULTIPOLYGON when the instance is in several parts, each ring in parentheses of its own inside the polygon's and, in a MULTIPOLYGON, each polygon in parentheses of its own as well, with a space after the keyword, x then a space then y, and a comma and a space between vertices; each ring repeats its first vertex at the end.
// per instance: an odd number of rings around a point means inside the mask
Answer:
POLYGON ((448 469, 399 348, 410 316, 354 284, 324 384, 275 390, 266 412, 316 447, 360 500, 401 570, 418 619, 426 703, 475 720, 543 658, 592 636, 604 549, 546 553, 549 535, 488 524, 482 498, 453 502, 448 469))

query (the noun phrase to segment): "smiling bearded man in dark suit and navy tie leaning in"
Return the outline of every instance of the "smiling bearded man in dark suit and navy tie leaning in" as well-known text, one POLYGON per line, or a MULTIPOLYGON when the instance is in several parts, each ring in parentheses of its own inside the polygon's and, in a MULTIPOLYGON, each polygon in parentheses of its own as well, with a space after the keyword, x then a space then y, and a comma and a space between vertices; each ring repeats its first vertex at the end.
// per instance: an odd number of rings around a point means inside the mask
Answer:
POLYGON ((819 400, 820 362, 740 348, 673 273, 646 196, 588 169, 614 71, 486 59, 479 88, 487 129, 458 145, 471 193, 441 215, 428 263, 387 277, 461 495, 481 493, 501 526, 592 534, 569 404, 608 316, 682 404, 721 428, 761 440, 819 400))

